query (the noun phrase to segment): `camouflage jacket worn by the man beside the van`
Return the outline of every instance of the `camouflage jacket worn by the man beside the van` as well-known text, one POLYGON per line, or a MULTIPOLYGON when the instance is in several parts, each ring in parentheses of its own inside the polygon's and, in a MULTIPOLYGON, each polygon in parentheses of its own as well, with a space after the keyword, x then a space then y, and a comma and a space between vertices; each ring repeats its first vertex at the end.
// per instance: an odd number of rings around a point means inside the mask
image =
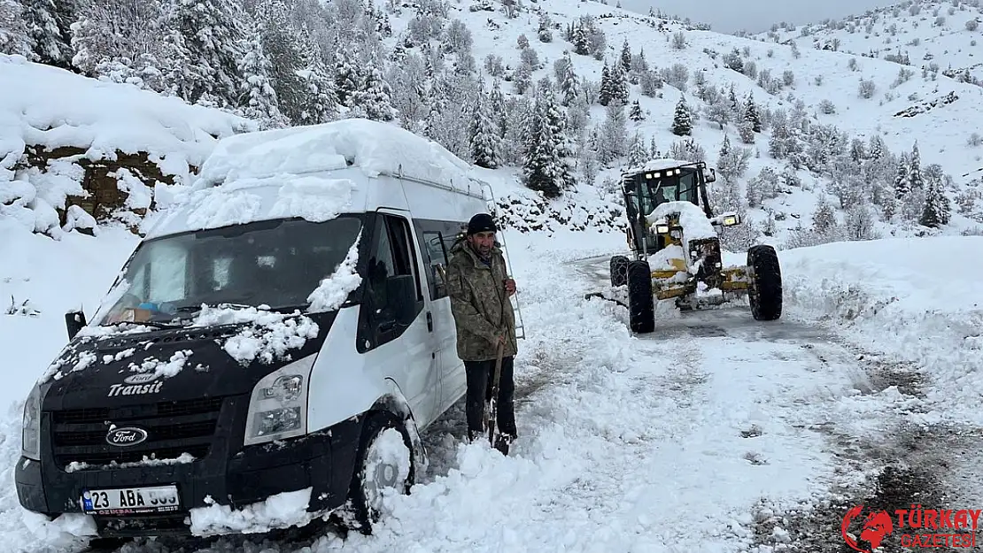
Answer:
POLYGON ((505 292, 508 277, 501 249, 492 249, 491 266, 462 240, 450 249, 447 295, 457 326, 457 356, 461 360, 490 360, 497 356, 496 336, 505 335, 502 357, 518 351, 515 313, 505 292))

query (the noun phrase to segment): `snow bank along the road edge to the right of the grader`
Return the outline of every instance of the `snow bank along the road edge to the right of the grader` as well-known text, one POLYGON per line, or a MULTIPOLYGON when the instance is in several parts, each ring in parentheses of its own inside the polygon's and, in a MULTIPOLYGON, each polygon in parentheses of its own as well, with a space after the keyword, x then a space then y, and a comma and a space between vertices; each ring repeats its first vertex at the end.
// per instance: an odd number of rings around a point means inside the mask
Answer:
POLYGON ((917 416, 983 424, 981 251, 981 237, 782 250, 785 303, 886 360, 922 367, 932 381, 927 401, 939 411, 917 416))

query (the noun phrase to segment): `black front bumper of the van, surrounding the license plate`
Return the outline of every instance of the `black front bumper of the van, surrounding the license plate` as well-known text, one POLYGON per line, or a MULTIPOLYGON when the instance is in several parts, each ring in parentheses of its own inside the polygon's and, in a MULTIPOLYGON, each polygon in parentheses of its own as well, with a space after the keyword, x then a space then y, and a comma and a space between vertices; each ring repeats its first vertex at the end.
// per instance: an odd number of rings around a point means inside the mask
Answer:
MULTIPOLYGON (((234 424, 238 410, 223 410, 227 424, 237 428, 214 436, 203 459, 187 464, 156 465, 126 469, 67 471, 51 453, 50 439, 42 439, 41 462, 22 457, 15 470, 21 505, 54 519, 65 513, 84 514, 82 496, 87 490, 177 486, 178 511, 162 514, 93 515, 97 531, 104 537, 191 534, 192 509, 213 504, 242 509, 283 492, 311 487, 308 511, 334 509, 344 504, 352 479, 362 418, 345 420, 330 428, 288 440, 239 447, 241 424, 234 424), (45 444, 46 443, 46 444, 45 444), (230 447, 231 446, 231 447, 230 447)), ((238 420, 245 420, 245 416, 238 420)), ((42 428, 47 426, 42 421, 42 428)), ((49 436, 43 432, 42 436, 49 436)), ((221 533, 221 532, 219 532, 221 533)))

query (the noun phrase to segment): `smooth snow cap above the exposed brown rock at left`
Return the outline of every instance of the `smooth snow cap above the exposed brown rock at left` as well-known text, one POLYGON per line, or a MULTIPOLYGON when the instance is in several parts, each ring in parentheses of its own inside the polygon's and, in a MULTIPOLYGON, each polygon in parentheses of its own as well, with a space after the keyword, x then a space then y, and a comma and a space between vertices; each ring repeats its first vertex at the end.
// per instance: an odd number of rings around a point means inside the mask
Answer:
MULTIPOLYGON (((130 84, 105 83, 0 54, 0 171, 26 145, 87 148, 88 159, 126 153, 159 156, 165 173, 187 177, 217 138, 256 128, 246 119, 130 84)), ((0 173, 0 178, 4 177, 0 173)), ((7 173, 7 179, 12 175, 7 173)))

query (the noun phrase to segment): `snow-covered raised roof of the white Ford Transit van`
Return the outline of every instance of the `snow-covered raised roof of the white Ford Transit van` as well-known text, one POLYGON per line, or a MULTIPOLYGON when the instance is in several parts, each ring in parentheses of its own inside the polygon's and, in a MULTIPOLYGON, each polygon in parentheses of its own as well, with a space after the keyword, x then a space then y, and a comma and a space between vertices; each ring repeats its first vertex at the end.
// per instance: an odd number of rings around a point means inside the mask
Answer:
POLYGON ((238 135, 218 142, 146 238, 278 218, 321 222, 379 206, 467 220, 487 199, 471 169, 434 141, 366 119, 238 135))

